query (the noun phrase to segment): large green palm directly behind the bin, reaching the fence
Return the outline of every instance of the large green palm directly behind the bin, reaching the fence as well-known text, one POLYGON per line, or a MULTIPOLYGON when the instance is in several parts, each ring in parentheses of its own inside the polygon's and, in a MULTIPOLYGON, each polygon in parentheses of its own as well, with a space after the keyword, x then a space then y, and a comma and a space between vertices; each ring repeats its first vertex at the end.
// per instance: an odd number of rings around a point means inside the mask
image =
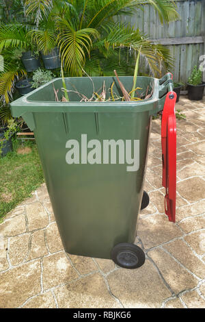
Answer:
POLYGON ((144 3, 154 7, 161 23, 179 17, 173 0, 25 1, 27 14, 36 12, 38 30, 31 33, 38 47, 49 51, 57 45, 65 69, 72 76, 82 76, 83 69, 90 75, 107 75, 113 68, 126 73, 122 49, 135 52, 141 47, 141 57, 153 75, 160 75, 161 67, 171 64, 165 47, 152 44, 139 30, 120 23, 122 14, 133 14, 144 3))

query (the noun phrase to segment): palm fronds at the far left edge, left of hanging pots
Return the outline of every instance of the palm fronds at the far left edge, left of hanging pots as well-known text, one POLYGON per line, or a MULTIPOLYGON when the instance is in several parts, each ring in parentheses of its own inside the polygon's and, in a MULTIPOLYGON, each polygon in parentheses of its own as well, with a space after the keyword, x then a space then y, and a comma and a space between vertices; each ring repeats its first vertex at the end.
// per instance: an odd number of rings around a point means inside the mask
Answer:
POLYGON ((0 17, 0 53, 3 56, 3 71, 0 71, 0 120, 7 123, 12 117, 10 101, 13 99, 15 83, 25 77, 23 64, 20 62, 22 51, 32 49, 29 39, 23 0, 0 0, 3 14, 0 17))

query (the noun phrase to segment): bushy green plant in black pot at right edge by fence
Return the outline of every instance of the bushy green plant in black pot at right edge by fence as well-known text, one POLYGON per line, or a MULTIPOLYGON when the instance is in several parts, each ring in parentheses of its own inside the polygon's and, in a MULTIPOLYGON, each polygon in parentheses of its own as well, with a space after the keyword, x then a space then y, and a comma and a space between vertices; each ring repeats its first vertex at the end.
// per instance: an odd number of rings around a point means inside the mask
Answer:
POLYGON ((193 67, 191 76, 187 82, 188 97, 194 101, 200 101, 204 94, 205 82, 202 82, 202 71, 197 69, 197 66, 193 67))

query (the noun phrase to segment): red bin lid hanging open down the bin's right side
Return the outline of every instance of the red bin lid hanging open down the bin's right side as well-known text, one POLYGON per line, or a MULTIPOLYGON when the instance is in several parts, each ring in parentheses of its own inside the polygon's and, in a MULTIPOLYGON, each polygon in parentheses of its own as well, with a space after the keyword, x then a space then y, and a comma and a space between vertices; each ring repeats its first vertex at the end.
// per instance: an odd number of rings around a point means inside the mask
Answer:
POLYGON ((166 95, 161 120, 163 186, 166 189, 165 214, 169 221, 176 220, 176 92, 166 95))

